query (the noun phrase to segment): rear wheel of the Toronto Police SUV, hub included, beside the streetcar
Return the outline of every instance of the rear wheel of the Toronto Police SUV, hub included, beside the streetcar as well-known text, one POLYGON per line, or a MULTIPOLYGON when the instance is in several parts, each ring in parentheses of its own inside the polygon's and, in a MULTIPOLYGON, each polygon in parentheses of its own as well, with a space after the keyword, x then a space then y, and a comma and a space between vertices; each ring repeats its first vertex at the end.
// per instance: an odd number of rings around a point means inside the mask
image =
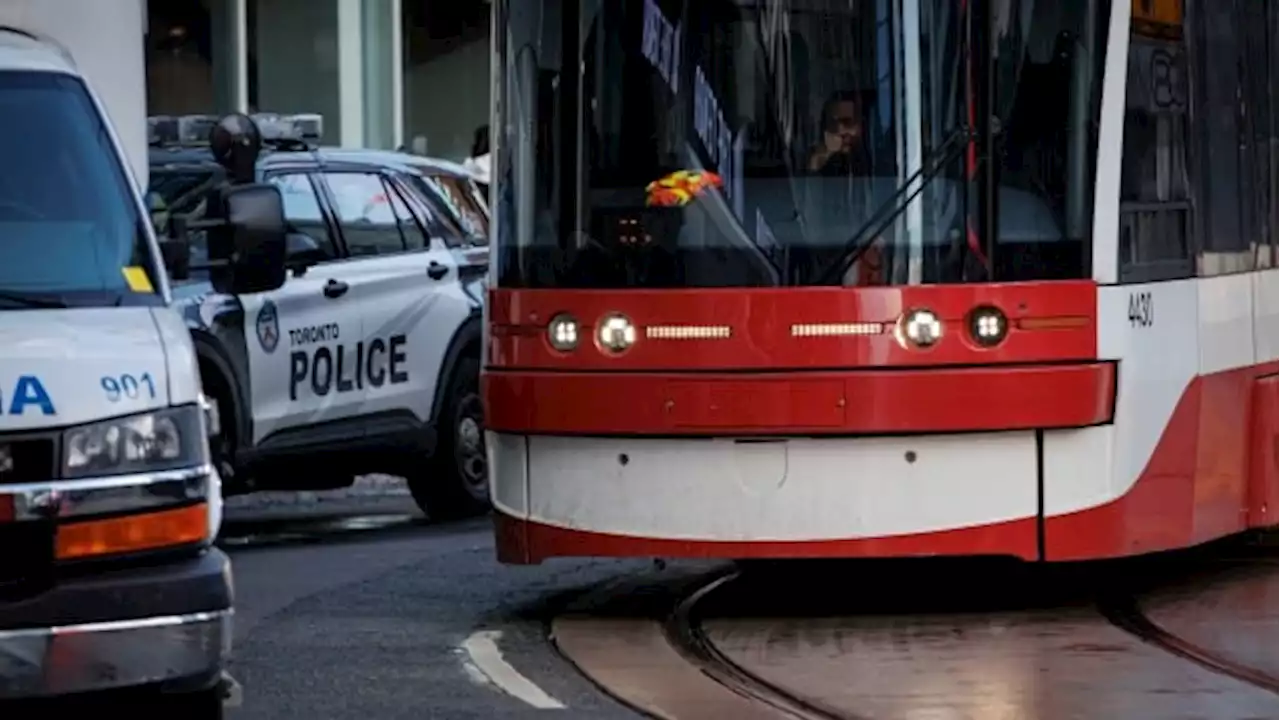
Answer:
POLYGON ((484 443, 480 363, 462 360, 449 379, 435 454, 408 477, 413 501, 433 520, 489 510, 489 457, 484 443))

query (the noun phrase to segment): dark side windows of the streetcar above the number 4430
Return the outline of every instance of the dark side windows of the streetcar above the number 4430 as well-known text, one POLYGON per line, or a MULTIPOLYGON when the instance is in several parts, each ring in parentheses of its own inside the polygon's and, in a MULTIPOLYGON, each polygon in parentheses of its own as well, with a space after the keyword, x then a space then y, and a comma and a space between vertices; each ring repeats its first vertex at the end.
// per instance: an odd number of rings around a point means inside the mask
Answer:
POLYGON ((1120 188, 1120 279, 1276 264, 1280 5, 1134 4, 1120 188), (1194 122, 1193 122, 1194 120, 1194 122))

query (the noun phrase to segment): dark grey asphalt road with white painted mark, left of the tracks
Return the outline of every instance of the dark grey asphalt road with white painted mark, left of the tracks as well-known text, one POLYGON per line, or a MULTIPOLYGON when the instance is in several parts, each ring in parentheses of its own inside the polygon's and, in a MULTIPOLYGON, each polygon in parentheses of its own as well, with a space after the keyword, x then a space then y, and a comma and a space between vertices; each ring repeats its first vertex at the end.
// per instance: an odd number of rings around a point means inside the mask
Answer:
POLYGON ((242 687, 232 719, 635 717, 556 653, 547 625, 581 589, 649 564, 502 566, 488 519, 428 525, 404 497, 233 506, 225 536, 242 687), (563 708, 488 682, 463 644, 494 630, 481 637, 563 708))

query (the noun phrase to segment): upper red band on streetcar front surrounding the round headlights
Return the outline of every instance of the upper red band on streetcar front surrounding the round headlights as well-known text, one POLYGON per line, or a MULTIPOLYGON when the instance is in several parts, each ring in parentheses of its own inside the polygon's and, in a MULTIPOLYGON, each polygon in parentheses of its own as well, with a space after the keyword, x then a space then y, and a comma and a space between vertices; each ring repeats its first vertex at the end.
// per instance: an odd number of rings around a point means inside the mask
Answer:
POLYGON ((563 370, 794 370, 873 366, 945 366, 1092 361, 1097 357, 1097 286, 1091 281, 911 287, 787 287, 722 290, 504 290, 489 292, 490 368, 563 370), (1009 319, 1009 337, 980 347, 968 316, 995 306, 1009 319), (927 350, 906 347, 892 332, 914 309, 943 324, 927 350), (581 324, 571 352, 547 338, 552 318, 567 313, 581 324), (602 352, 594 325, 612 313, 637 328, 621 355, 602 352), (1056 323, 1070 318, 1070 323, 1056 323), (1044 324, 1036 327, 1036 320, 1044 324), (1079 320, 1084 320, 1083 323, 1079 320), (883 325, 878 334, 810 333, 797 325, 883 325), (649 338, 645 328, 727 328, 691 338, 649 338))

